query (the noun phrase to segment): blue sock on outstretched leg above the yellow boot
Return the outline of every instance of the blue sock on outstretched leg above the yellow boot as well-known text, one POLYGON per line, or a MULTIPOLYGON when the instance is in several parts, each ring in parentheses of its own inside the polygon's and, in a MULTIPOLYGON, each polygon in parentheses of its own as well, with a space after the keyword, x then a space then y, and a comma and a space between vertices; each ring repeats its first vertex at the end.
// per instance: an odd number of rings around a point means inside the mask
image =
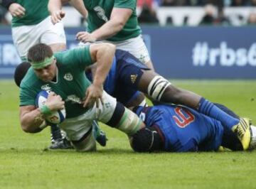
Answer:
POLYGON ((223 112, 223 110, 219 109, 212 102, 209 102, 203 97, 200 99, 198 112, 213 119, 217 119, 223 124, 223 126, 228 127, 228 129, 232 129, 232 127, 239 122, 239 119, 231 117, 229 114, 223 112))

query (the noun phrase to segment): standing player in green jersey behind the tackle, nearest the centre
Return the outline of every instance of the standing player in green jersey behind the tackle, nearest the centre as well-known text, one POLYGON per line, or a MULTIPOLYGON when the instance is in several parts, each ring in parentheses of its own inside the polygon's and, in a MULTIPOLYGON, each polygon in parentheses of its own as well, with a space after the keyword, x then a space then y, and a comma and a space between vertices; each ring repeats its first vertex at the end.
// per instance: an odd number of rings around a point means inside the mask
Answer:
MULTIPOLYGON (((77 34, 79 41, 107 41, 126 50, 153 70, 149 52, 142 39, 136 13, 136 0, 70 0, 82 15, 88 12, 87 31, 77 34), (85 9, 86 8, 86 9, 85 9)), ((50 0, 48 9, 53 23, 58 23, 65 13, 61 11, 63 0, 50 0)))

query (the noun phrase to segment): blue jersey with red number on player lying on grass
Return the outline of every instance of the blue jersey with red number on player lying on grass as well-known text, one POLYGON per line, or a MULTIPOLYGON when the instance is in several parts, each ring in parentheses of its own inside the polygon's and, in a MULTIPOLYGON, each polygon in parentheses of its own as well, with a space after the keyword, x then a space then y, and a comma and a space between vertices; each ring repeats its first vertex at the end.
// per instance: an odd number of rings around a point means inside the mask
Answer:
POLYGON ((216 151, 223 136, 220 121, 181 106, 137 107, 146 126, 156 126, 164 136, 166 151, 216 151))

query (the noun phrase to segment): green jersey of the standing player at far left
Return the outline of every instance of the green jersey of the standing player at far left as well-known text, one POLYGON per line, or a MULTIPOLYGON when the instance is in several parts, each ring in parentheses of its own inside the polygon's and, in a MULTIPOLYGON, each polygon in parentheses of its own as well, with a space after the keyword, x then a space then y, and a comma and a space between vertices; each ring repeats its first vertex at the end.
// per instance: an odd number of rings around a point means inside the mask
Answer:
POLYGON ((16 0, 16 3, 23 6, 26 12, 21 18, 13 17, 11 27, 35 25, 49 16, 48 0, 16 0))

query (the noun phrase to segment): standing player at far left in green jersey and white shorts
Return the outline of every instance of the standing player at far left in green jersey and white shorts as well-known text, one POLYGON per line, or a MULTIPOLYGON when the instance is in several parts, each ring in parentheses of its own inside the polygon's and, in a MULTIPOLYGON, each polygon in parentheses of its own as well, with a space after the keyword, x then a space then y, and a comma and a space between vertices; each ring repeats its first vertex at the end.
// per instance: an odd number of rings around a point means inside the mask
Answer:
MULTIPOLYGON (((51 23, 47 9, 48 0, 4 0, 2 4, 13 16, 12 36, 22 60, 27 59, 28 49, 36 43, 50 45, 53 52, 65 50, 63 23, 51 23)), ((68 142, 63 140, 58 127, 51 127, 51 136, 50 148, 70 148, 68 142)))

